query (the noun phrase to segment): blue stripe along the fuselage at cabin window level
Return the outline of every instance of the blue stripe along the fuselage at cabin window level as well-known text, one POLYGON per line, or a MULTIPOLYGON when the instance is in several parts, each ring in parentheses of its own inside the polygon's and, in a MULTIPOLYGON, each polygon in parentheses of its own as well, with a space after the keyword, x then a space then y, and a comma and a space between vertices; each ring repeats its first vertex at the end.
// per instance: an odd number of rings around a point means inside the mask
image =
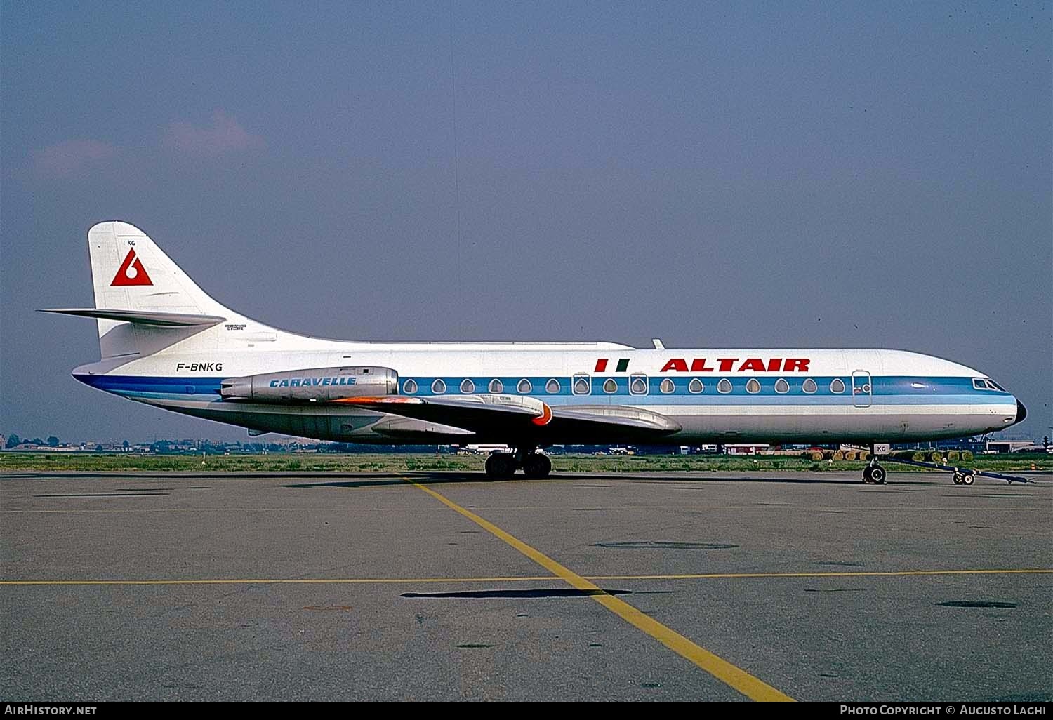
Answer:
MULTIPOLYGON (((78 375, 78 380, 93 387, 127 395, 134 397, 158 397, 158 398, 187 398, 197 396, 203 398, 219 398, 220 383, 222 377, 153 377, 153 376, 128 376, 128 375, 78 375)), ((489 393, 489 385, 493 377, 471 377, 475 393, 489 393)), ((778 377, 756 377, 760 387, 757 393, 747 392, 747 381, 751 376, 719 376, 719 375, 686 375, 686 376, 657 376, 648 378, 648 392, 645 394, 631 394, 630 384, 633 376, 596 376, 590 378, 591 393, 576 395, 572 392, 573 377, 501 377, 503 389, 506 395, 531 395, 538 398, 552 399, 558 404, 587 404, 604 403, 613 399, 631 399, 634 404, 642 405, 777 405, 777 404, 804 404, 804 405, 852 405, 852 378, 851 376, 787 376, 783 379, 790 385, 789 393, 776 393, 775 383, 778 377), (732 391, 728 394, 717 392, 717 383, 721 378, 731 381, 732 391), (808 394, 803 392, 802 385, 806 379, 811 377, 815 381, 816 392, 808 394), (689 388, 691 381, 698 378, 703 383, 701 393, 692 393, 689 388), (526 393, 519 393, 516 388, 521 380, 531 383, 531 389, 526 393), (663 380, 672 380, 673 392, 662 393, 663 380), (831 383, 839 379, 845 383, 845 392, 837 394, 831 391, 831 383), (549 392, 550 380, 556 380, 558 389, 551 387, 554 392, 549 392), (605 393, 604 383, 613 380, 616 385, 614 393, 605 393)), ((429 397, 433 395, 459 395, 461 383, 465 380, 463 376, 450 377, 403 377, 400 379, 399 388, 404 395, 417 397, 429 397), (442 380, 445 383, 443 392, 434 392, 433 383, 442 380), (414 393, 406 393, 408 382, 414 382, 417 389, 414 393)), ((858 386, 859 380, 857 378, 858 386)), ((1013 396, 1009 393, 997 393, 993 391, 977 391, 973 387, 971 378, 923 378, 923 377, 875 377, 871 379, 871 392, 874 404, 900 404, 900 405, 923 405, 923 404, 991 404, 1004 405, 1014 402, 1013 396)))

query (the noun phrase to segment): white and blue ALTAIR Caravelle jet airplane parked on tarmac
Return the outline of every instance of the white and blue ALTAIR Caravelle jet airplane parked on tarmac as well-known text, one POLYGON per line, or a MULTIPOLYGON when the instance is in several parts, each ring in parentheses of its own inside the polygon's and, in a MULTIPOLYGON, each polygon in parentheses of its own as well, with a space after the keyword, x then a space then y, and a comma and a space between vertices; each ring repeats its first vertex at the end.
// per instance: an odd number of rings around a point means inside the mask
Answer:
POLYGON ((548 477, 555 444, 856 443, 871 448, 862 481, 883 483, 890 443, 1027 415, 988 375, 898 349, 306 337, 224 307, 134 225, 100 222, 87 243, 95 306, 42 311, 96 320, 101 359, 73 377, 250 435, 514 448, 488 458, 494 479, 548 477))

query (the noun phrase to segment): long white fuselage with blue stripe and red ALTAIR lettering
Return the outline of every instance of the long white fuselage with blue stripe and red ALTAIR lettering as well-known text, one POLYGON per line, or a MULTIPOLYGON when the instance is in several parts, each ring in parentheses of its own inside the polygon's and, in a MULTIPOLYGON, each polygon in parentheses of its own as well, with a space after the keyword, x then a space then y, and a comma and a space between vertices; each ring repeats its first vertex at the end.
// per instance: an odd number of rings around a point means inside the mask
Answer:
MULTIPOLYGON (((398 373, 400 395, 426 398, 498 389, 535 397, 553 407, 643 407, 681 425, 668 437, 670 444, 903 442, 985 433, 1017 419, 1016 398, 974 385, 974 379, 987 377, 982 373, 901 351, 305 340, 314 347, 272 351, 258 347, 261 342, 244 349, 179 353, 171 347, 116 366, 85 365, 75 376, 176 412, 254 431, 344 442, 514 444, 516 439, 346 406, 231 403, 219 397, 219 383, 278 371, 376 365, 398 373)), ((574 441, 552 439, 553 444, 574 441)))

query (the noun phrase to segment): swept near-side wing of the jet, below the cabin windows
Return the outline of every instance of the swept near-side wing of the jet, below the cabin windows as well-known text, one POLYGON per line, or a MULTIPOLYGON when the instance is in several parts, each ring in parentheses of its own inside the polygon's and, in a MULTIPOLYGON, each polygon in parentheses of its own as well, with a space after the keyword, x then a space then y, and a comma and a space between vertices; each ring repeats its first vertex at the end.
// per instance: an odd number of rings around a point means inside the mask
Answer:
POLYGON ((670 418, 641 407, 552 407, 517 395, 380 396, 333 402, 463 427, 484 438, 539 444, 657 440, 681 429, 670 418))

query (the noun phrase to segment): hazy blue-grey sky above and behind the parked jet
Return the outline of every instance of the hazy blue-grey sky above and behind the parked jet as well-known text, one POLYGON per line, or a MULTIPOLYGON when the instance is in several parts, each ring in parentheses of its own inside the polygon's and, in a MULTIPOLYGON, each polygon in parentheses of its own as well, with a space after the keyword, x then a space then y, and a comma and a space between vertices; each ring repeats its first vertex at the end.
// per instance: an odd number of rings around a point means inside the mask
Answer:
POLYGON ((1053 425, 1051 5, 0 5, 0 432, 108 398, 84 233, 312 335, 887 346, 1053 425), (455 140, 456 139, 456 140, 455 140), (456 166, 456 172, 455 172, 456 166))

